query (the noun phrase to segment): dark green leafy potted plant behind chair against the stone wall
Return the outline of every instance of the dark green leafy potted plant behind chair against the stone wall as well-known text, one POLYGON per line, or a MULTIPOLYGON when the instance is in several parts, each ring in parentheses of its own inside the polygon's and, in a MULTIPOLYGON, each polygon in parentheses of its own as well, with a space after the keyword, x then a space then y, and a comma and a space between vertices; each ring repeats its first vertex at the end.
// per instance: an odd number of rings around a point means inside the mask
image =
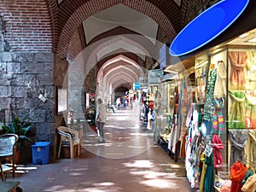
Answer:
POLYGON ((5 133, 14 133, 19 136, 16 152, 16 157, 19 159, 20 151, 24 149, 24 143, 33 143, 30 133, 32 125, 30 123, 20 122, 20 119, 16 116, 9 124, 6 124, 5 119, 3 119, 2 129, 5 133))

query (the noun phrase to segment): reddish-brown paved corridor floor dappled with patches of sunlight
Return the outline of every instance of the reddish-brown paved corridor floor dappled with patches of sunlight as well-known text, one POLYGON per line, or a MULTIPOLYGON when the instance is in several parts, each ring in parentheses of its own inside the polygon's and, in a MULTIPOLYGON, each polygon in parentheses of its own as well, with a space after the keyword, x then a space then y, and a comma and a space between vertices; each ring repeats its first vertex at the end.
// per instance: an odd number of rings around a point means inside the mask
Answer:
POLYGON ((173 172, 172 158, 153 143, 136 110, 108 113, 106 143, 97 143, 94 131, 85 130, 79 158, 61 159, 47 165, 18 166, 17 177, 24 192, 184 192, 186 177, 173 172))

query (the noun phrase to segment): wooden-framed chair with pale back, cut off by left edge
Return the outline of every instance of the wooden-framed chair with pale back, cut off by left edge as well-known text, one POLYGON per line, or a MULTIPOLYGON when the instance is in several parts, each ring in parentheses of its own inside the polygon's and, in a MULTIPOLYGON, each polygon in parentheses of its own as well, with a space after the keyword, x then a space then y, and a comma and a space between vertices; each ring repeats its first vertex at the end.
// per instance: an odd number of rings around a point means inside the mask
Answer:
POLYGON ((6 174, 10 171, 13 172, 13 177, 15 177, 15 170, 16 170, 15 152, 17 149, 18 139, 19 137, 15 134, 0 135, 0 160, 4 160, 4 161, 10 160, 10 163, 11 163, 10 164, 11 166, 7 166, 8 164, 6 165, 1 164, 0 169, 1 169, 1 177, 3 181, 6 180, 6 174))

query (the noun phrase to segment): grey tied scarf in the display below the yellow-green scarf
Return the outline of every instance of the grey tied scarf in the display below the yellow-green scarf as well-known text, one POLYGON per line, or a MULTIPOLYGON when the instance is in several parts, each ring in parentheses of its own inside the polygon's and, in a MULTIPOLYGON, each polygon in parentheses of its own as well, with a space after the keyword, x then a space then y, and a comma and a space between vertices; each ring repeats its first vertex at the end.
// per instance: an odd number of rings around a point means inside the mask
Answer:
POLYGON ((244 157, 248 130, 229 130, 229 136, 231 143, 230 165, 233 165, 236 160, 242 160, 244 157))

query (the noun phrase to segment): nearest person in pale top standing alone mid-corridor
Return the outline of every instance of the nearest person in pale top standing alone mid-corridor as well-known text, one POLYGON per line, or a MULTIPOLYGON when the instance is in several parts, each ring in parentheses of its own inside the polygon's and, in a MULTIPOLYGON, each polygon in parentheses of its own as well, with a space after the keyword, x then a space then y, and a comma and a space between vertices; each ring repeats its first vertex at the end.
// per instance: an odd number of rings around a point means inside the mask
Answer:
POLYGON ((101 98, 97 99, 97 108, 96 108, 96 126, 97 126, 97 133, 99 137, 98 143, 105 143, 104 139, 104 124, 106 122, 106 108, 102 102, 101 98))

